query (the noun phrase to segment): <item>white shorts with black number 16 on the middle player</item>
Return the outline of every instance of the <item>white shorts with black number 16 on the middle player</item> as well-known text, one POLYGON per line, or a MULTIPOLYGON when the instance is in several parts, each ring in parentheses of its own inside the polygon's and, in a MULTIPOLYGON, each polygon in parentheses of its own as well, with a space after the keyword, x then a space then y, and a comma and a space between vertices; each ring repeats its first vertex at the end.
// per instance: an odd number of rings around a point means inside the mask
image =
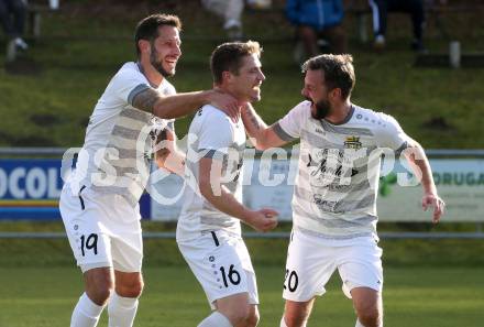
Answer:
POLYGON ((217 299, 249 294, 249 304, 258 304, 257 282, 244 241, 223 231, 204 233, 178 248, 204 287, 212 309, 217 299))

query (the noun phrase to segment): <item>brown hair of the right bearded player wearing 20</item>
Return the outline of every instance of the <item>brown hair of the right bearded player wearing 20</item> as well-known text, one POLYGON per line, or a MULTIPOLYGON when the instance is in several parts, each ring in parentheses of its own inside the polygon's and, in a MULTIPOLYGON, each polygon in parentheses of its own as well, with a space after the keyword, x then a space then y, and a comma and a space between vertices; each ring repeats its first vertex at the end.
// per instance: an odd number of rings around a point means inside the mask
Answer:
POLYGON ((324 54, 309 58, 302 64, 302 73, 308 70, 324 72, 324 83, 328 88, 341 89, 341 97, 345 100, 351 95, 354 84, 353 57, 349 54, 324 54))

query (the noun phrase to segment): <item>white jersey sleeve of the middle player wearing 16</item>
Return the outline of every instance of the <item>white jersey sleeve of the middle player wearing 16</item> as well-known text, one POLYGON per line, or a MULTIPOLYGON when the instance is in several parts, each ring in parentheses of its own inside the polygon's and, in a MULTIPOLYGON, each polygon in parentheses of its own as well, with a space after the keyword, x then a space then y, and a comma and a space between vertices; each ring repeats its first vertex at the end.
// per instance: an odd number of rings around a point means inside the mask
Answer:
POLYGON ((204 157, 223 160, 233 144, 233 127, 229 117, 218 110, 204 110, 198 151, 204 157))

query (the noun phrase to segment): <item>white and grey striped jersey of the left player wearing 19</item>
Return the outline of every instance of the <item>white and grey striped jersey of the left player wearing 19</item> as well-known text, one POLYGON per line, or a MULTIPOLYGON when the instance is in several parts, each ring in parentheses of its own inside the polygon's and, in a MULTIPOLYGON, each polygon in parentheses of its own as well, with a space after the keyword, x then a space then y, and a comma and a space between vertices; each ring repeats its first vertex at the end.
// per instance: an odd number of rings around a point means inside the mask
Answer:
MULTIPOLYGON (((123 196, 132 206, 140 200, 150 174, 156 135, 174 120, 154 117, 132 106, 141 91, 153 87, 136 63, 125 63, 112 77, 89 119, 72 185, 123 196)), ((155 88, 176 94, 166 78, 155 88)))

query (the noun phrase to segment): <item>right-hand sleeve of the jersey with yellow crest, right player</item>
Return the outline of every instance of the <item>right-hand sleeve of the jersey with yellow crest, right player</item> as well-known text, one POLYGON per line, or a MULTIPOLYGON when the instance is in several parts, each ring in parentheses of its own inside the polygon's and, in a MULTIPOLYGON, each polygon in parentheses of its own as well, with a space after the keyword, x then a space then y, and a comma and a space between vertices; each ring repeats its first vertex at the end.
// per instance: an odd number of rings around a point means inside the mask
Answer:
POLYGON ((400 124, 389 115, 380 113, 382 119, 381 129, 378 130, 378 146, 389 148, 398 155, 407 149, 410 138, 404 132, 400 124))

